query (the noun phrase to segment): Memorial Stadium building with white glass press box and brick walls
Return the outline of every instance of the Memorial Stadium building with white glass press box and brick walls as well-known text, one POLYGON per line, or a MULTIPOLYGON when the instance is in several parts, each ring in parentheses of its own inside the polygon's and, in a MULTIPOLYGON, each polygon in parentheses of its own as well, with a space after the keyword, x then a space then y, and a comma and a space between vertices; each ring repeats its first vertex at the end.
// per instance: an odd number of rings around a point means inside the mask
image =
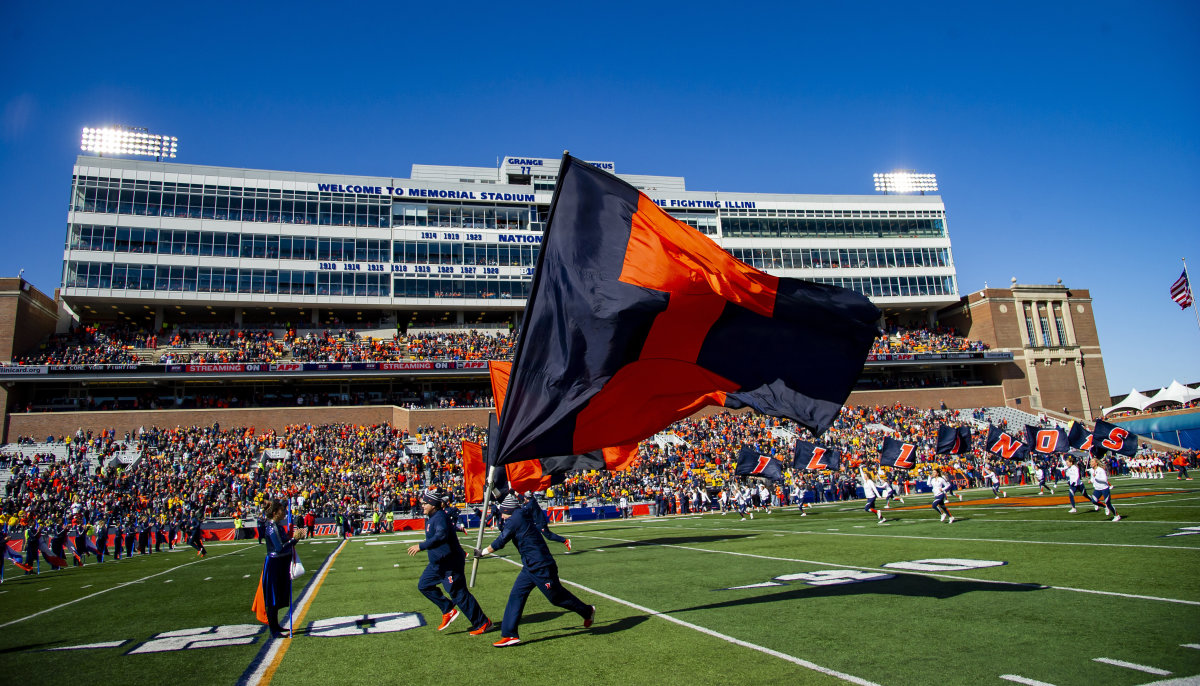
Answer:
MULTIPOLYGON (((940 313, 943 320, 958 314, 960 333, 994 348, 872 357, 857 402, 883 402, 883 393, 926 407, 1042 404, 1027 384, 1025 349, 1038 347, 1034 332, 1019 342, 996 333, 1003 327, 977 326, 991 319, 961 314, 940 195, 689 191, 682 176, 592 164, 752 266, 866 294, 884 312, 881 325, 920 327, 940 313)), ((388 336, 427 327, 508 330, 529 294, 558 166, 558 158, 541 157, 503 157, 496 167, 414 164, 403 179, 79 156, 56 326, 354 327, 388 336)), ((1086 305, 1090 314, 1090 299, 1086 305)), ((1094 324, 1082 319, 1067 318, 1063 326, 1090 326, 1090 335, 1070 329, 1045 341, 1079 348, 1076 338, 1094 338, 1094 324)), ((44 319, 38 321, 41 329, 34 327, 42 331, 44 319)), ((8 355, 23 348, 7 347, 8 355)), ((96 407, 96 398, 120 409, 144 397, 148 384, 160 407, 186 404, 215 387, 245 391, 247 404, 286 405, 305 391, 403 404, 445 390, 486 389, 481 367, 144 363, 0 373, 19 386, 8 404, 36 411, 96 407)), ((1063 397, 1054 396, 1055 403, 1063 397)), ((1063 407, 1085 411, 1098 404, 1076 397, 1063 407)))

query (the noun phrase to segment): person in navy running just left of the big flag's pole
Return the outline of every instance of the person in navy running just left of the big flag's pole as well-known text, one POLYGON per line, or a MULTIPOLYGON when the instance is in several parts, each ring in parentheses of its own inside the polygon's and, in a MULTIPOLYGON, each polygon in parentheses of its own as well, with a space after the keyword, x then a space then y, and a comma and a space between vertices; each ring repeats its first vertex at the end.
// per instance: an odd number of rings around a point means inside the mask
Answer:
POLYGON ((449 495, 437 487, 430 487, 421 492, 421 511, 425 513, 425 540, 408 547, 409 555, 416 555, 421 550, 430 558, 430 564, 421 572, 421 578, 416 582, 416 590, 430 598, 433 604, 442 610, 442 624, 438 631, 450 626, 450 622, 458 618, 460 610, 470 621, 472 636, 479 636, 492 628, 492 620, 487 619, 479 607, 479 601, 467 590, 467 553, 458 543, 458 534, 455 523, 446 513, 445 505, 449 495), (445 586, 450 597, 443 595, 438 584, 445 586), (455 608, 455 606, 458 606, 455 608))

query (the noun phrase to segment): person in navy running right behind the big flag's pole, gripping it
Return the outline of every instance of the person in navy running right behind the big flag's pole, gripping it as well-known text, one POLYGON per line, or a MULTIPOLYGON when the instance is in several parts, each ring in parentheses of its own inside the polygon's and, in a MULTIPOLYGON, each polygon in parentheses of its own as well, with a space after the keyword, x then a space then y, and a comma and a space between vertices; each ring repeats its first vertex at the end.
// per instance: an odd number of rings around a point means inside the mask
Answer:
POLYGON ((558 580, 558 565, 554 556, 550 554, 546 541, 542 540, 538 525, 529 514, 521 509, 516 493, 509 493, 500 503, 500 535, 492 541, 492 544, 482 550, 476 549, 475 556, 490 555, 499 550, 509 541, 515 541, 517 550, 521 553, 521 561, 524 566, 517 579, 512 583, 512 591, 509 592, 509 602, 504 607, 504 621, 500 624, 500 639, 493 643, 496 648, 506 648, 521 643, 517 633, 517 625, 521 624, 521 614, 524 612, 526 600, 529 591, 538 588, 552 604, 571 610, 583 618, 583 628, 592 626, 596 616, 595 606, 583 604, 583 601, 575 597, 575 594, 563 588, 558 580))

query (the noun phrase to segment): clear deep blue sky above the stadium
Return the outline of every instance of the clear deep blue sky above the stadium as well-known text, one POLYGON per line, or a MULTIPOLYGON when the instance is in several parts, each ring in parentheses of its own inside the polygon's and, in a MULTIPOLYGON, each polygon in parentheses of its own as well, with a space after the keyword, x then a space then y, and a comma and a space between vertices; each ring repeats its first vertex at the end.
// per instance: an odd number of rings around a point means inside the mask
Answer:
POLYGON ((1094 299, 1110 390, 1200 381, 1200 4, 0 4, 0 275, 61 278, 83 126, 408 176, 564 149, 704 191, 935 172, 962 293, 1094 299), (776 6, 778 5, 778 6, 776 6))

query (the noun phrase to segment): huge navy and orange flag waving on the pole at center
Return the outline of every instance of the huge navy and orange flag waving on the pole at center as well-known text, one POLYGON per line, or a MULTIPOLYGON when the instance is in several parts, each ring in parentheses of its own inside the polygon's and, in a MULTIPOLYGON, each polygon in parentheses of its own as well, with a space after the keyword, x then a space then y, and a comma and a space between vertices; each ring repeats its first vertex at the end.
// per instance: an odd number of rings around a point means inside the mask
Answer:
POLYGON ((862 294, 736 260, 564 155, 490 462, 634 444, 708 405, 820 434, 878 318, 862 294))

